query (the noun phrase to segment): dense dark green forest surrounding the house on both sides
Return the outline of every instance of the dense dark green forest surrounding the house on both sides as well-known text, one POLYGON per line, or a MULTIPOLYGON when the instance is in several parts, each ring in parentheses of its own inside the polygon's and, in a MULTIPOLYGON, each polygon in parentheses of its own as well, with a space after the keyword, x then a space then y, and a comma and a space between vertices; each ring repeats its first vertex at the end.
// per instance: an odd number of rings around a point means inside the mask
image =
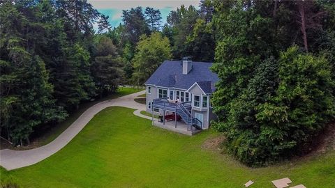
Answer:
POLYGON ((330 0, 201 0, 165 24, 136 7, 111 26, 86 0, 5 0, 0 16, 1 136, 15 144, 184 56, 214 62, 212 127, 245 164, 300 154, 335 117, 330 0))

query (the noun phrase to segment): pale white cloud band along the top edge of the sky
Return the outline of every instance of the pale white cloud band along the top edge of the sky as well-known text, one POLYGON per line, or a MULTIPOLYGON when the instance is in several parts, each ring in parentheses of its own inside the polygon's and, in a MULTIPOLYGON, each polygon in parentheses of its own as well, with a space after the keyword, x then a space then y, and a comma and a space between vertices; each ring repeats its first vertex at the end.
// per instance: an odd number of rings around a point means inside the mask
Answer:
POLYGON ((88 0, 92 6, 96 9, 119 9, 119 10, 128 10, 130 8, 135 8, 137 6, 142 7, 152 7, 152 8, 171 8, 177 9, 181 5, 188 7, 193 5, 195 7, 199 6, 199 0, 88 0))

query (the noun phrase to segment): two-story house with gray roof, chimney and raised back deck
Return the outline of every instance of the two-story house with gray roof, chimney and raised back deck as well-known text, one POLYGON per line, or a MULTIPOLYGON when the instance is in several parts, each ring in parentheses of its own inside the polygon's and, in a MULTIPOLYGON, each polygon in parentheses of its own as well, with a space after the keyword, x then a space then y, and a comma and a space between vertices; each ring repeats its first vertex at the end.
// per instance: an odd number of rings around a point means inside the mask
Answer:
POLYGON ((193 127, 208 129, 215 117, 210 100, 218 81, 218 76, 209 69, 211 65, 188 58, 164 61, 144 84, 147 112, 159 113, 163 124, 174 120, 176 128, 180 119, 187 125, 187 131, 192 132, 193 127))

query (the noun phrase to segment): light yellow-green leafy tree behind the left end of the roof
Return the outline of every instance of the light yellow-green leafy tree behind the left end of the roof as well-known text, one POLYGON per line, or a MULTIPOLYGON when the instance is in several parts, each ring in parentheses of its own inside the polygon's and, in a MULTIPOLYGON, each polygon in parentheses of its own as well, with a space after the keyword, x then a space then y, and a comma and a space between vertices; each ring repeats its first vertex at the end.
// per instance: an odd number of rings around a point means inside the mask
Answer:
POLYGON ((133 58, 133 82, 137 85, 143 84, 163 61, 171 57, 168 38, 163 38, 161 33, 142 36, 133 58))

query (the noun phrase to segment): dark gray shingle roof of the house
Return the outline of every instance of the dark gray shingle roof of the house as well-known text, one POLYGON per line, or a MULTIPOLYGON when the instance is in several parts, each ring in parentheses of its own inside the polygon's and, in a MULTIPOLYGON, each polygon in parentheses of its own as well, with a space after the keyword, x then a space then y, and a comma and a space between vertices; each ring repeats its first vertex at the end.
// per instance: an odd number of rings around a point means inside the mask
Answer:
POLYGON ((218 76, 209 70, 211 65, 213 63, 193 61, 192 70, 183 75, 181 61, 164 61, 144 84, 188 89, 198 82, 204 93, 212 93, 218 76))

